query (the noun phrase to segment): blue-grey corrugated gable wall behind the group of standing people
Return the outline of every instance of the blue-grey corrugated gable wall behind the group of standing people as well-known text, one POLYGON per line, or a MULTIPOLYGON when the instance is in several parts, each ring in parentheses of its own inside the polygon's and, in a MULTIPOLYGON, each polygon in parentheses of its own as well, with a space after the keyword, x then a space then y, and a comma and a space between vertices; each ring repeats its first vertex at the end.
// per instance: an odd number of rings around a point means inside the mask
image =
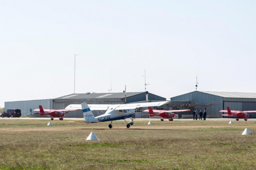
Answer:
MULTIPOLYGON (((198 104, 210 104, 210 103, 216 103, 218 102, 219 105, 217 106, 210 106, 206 109, 206 112, 208 115, 218 115, 219 118, 222 117, 222 113, 219 112, 220 110, 223 110, 223 98, 220 96, 214 96, 212 94, 206 94, 202 92, 191 92, 187 94, 183 94, 180 96, 172 97, 172 100, 178 100, 178 101, 189 101, 190 103, 197 102, 198 104)), ((192 108, 194 110, 194 108, 192 108)), ((198 108, 197 110, 204 111, 204 108, 198 108)))

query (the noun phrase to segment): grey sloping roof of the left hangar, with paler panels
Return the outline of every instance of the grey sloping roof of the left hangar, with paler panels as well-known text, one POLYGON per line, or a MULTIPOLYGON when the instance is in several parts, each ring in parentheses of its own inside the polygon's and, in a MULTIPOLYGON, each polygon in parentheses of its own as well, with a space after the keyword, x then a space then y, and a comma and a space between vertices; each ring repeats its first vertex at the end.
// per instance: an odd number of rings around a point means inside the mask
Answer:
MULTIPOLYGON (((133 96, 144 92, 126 92, 126 97, 133 96)), ((125 93, 76 93, 54 99, 93 99, 93 98, 124 98, 125 93)))

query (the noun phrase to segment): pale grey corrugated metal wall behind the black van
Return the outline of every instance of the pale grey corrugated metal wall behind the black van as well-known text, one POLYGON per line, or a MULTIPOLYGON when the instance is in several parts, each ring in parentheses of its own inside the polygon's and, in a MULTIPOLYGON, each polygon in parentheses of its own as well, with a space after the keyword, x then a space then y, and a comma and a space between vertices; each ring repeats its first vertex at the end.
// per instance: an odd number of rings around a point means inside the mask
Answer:
MULTIPOLYGON (((4 102, 5 109, 19 108, 22 116, 31 116, 30 109, 38 109, 39 105, 42 105, 43 108, 52 109, 52 99, 4 102)), ((40 117, 40 115, 33 116, 40 117)))

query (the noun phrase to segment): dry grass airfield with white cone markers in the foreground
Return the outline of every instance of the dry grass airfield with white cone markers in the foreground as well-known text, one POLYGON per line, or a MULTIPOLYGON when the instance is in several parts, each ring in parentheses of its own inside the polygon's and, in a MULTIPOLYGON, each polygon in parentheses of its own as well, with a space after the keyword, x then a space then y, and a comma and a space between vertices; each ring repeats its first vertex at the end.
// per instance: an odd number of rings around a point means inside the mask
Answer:
POLYGON ((0 119, 0 169, 253 170, 256 121, 0 119), (248 128, 251 135, 242 135, 248 128), (94 132, 99 140, 86 140, 94 132))

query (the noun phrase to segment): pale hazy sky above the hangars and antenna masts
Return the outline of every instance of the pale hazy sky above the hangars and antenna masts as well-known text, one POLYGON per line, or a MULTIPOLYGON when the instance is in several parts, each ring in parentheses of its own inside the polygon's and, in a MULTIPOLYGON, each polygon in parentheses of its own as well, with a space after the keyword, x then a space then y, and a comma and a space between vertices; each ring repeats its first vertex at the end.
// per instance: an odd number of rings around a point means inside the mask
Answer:
POLYGON ((256 92, 256 1, 0 0, 0 106, 74 93, 256 92), (60 3, 61 2, 61 3, 60 3))

